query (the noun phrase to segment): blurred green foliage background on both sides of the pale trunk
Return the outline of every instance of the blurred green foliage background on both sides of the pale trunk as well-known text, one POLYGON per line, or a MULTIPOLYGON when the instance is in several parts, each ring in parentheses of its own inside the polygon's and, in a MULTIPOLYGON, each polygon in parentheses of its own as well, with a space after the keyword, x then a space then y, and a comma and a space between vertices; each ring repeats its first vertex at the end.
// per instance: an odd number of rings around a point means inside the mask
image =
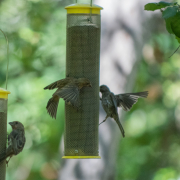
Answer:
MULTIPOLYGON (((57 120, 46 113, 52 91, 43 88, 65 77, 66 10, 72 1, 5 0, 0 28, 10 46, 8 121, 26 127, 23 153, 13 157, 7 180, 56 179, 61 167, 59 145, 64 129, 64 103, 57 120)), ((153 12, 152 12, 153 13, 153 12)), ((152 32, 143 47, 133 91, 148 89, 126 113, 128 137, 121 141, 116 179, 180 179, 180 54, 165 29, 152 32), (143 108, 142 108, 143 107, 143 108), (133 147, 133 148, 132 148, 133 147)), ((0 87, 5 88, 6 41, 0 34, 0 87)), ((8 125, 8 132, 11 128, 8 125)))

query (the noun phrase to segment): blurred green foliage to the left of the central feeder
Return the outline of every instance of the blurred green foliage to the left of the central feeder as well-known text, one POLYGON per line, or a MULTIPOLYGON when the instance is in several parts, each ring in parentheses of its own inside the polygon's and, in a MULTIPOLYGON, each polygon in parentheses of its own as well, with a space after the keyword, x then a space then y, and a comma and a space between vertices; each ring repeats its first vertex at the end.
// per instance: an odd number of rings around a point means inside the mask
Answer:
MULTIPOLYGON (((0 5, 0 28, 10 46, 8 121, 26 127, 23 153, 12 158, 7 180, 55 179, 64 104, 57 120, 46 112, 52 91, 43 88, 65 76, 66 10, 59 1, 6 0, 0 5)), ((0 34, 0 87, 5 88, 6 41, 0 34)), ((8 126, 8 131, 11 128, 8 126)))

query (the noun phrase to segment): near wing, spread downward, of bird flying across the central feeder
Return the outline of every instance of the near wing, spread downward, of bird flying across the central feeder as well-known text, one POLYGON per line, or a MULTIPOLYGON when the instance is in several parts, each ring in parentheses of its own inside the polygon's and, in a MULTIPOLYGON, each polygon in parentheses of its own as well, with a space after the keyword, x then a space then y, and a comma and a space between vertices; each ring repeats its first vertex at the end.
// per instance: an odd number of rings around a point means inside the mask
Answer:
POLYGON ((54 95, 59 96, 59 98, 63 98, 67 104, 77 108, 79 106, 79 88, 74 83, 67 84, 63 88, 57 89, 53 96, 54 95))

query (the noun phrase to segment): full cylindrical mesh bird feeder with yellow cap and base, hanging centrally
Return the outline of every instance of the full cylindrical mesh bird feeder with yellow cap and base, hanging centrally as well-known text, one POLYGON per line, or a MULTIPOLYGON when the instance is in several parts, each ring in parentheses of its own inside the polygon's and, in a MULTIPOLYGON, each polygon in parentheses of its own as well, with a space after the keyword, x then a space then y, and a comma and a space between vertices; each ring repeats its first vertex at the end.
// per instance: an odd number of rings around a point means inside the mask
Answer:
POLYGON ((80 110, 65 105, 63 158, 100 158, 99 56, 100 10, 96 5, 73 4, 67 9, 66 75, 88 78, 92 88, 80 91, 80 110))

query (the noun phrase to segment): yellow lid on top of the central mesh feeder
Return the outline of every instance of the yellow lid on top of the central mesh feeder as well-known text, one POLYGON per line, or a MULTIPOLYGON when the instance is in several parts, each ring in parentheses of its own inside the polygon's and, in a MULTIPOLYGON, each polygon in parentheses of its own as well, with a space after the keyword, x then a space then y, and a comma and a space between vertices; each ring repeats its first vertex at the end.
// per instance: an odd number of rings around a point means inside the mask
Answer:
POLYGON ((100 14, 100 10, 103 8, 97 5, 90 4, 71 4, 69 6, 66 6, 65 9, 67 9, 68 14, 90 14, 90 9, 92 9, 92 14, 100 14))

